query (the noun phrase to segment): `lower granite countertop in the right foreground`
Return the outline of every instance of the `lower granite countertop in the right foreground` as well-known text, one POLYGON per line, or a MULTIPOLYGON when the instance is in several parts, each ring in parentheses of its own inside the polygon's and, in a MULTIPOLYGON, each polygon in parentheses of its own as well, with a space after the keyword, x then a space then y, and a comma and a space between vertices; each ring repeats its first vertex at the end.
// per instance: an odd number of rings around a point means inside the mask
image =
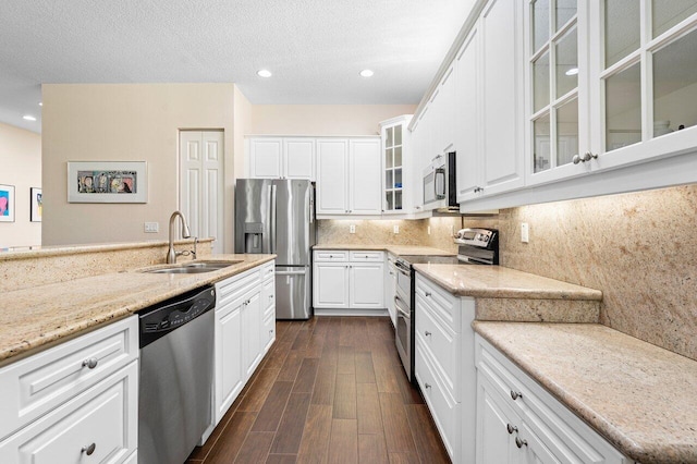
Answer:
POLYGON ((697 463, 697 362, 597 323, 473 327, 623 454, 697 463))

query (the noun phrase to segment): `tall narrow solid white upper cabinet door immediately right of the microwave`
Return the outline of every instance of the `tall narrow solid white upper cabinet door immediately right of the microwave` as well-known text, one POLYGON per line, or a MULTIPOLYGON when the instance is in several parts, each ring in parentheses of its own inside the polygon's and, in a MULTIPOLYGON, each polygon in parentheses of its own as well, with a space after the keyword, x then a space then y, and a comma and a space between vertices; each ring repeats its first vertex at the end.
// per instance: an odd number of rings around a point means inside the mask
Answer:
POLYGON ((457 202, 474 198, 481 186, 479 162, 480 118, 478 78, 478 34, 473 29, 455 57, 456 147, 457 147, 457 202))

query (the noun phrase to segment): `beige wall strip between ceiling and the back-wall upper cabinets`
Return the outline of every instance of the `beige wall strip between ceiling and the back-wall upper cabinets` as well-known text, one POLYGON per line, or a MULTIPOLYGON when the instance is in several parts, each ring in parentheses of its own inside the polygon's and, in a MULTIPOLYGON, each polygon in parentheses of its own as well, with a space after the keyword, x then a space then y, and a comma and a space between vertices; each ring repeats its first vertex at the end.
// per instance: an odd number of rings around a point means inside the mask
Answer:
POLYGON ((416 105, 254 105, 247 135, 379 135, 378 123, 416 105))

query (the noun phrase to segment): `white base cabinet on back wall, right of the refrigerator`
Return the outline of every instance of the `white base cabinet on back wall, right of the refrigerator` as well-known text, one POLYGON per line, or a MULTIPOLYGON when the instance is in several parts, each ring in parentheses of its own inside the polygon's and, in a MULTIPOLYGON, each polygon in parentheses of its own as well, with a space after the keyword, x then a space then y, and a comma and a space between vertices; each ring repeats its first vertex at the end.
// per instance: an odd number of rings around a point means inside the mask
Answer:
POLYGON ((383 252, 315 252, 314 261, 316 314, 384 314, 383 252))

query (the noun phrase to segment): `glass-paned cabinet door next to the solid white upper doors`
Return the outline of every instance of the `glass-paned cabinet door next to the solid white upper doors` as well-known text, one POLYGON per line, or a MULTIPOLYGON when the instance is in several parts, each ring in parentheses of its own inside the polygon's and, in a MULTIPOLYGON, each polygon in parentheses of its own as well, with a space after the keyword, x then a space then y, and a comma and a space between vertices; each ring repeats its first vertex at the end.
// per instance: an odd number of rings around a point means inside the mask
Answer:
POLYGON ((576 0, 529 1, 527 56, 533 174, 570 164, 578 155, 576 3, 576 0))

